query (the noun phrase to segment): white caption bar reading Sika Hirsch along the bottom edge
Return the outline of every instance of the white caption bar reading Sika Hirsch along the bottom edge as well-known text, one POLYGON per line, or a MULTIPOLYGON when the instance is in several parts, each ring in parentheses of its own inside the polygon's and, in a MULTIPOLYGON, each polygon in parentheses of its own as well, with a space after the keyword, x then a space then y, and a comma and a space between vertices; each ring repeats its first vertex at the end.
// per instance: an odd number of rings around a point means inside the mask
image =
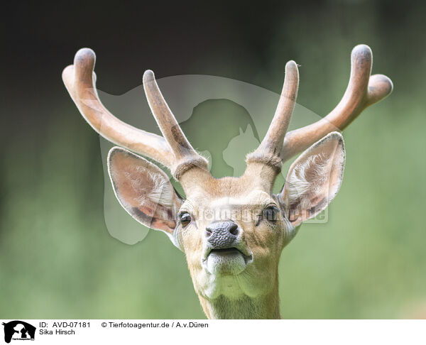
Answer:
MULTIPOLYGON (((0 344, 426 344, 426 320, 6 319, 0 344), (35 329, 34 329, 35 328, 35 329), (9 339, 8 339, 9 337, 9 339), (31 339, 33 338, 33 339, 31 339)), ((0 331, 1 333, 1 331, 0 331)))

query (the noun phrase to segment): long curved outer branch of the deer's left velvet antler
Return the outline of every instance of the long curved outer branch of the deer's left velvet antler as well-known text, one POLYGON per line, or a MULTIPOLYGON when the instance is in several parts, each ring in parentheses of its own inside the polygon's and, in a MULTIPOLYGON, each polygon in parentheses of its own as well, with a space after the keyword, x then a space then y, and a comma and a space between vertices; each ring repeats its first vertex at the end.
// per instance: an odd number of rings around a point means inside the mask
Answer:
POLYGON ((102 104, 95 86, 95 59, 92 49, 82 48, 75 54, 74 65, 62 72, 65 87, 84 119, 107 140, 173 167, 173 154, 164 138, 124 123, 102 104))

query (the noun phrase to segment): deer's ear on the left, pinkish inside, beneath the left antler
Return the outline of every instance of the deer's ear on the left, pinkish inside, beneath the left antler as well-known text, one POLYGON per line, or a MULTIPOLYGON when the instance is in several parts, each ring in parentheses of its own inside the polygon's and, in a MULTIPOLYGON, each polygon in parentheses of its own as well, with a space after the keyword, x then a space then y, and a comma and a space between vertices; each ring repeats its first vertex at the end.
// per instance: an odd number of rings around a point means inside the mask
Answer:
POLYGON ((173 239, 175 214, 182 199, 165 172, 119 147, 108 153, 108 172, 116 198, 131 217, 151 229, 165 231, 173 239))

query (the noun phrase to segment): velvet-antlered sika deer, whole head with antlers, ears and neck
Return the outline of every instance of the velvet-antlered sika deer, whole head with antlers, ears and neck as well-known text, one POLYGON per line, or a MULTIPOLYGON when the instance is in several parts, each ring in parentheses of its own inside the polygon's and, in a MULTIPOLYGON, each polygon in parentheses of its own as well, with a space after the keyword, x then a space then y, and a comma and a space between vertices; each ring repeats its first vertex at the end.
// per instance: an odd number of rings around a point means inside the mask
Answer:
POLYGON ((108 168, 120 204, 141 224, 163 231, 185 253, 202 308, 210 318, 278 318, 278 261, 302 221, 315 217, 339 191, 345 163, 342 131, 367 106, 391 93, 384 75, 371 76, 372 54, 357 45, 342 101, 315 124, 287 132, 299 75, 285 66, 275 115, 260 146, 246 157, 241 177, 213 177, 190 145, 158 89, 143 75, 149 106, 163 136, 117 119, 95 87, 94 52, 81 49, 62 73, 80 113, 111 148, 108 168), (302 152, 303 151, 303 152, 302 152), (272 193, 283 161, 291 165, 283 190, 272 193), (185 191, 178 195, 157 165, 169 168, 185 191))

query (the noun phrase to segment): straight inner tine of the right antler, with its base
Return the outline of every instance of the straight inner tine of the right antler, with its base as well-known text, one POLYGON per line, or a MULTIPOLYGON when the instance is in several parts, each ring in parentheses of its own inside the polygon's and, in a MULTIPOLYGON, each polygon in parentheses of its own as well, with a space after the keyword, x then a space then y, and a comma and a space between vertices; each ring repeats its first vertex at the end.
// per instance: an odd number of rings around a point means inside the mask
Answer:
POLYGON ((298 87, 299 70, 296 62, 292 60, 285 65, 283 90, 271 125, 258 148, 247 155, 247 163, 256 161, 271 165, 276 170, 281 169, 280 153, 288 124, 295 109, 298 87))

